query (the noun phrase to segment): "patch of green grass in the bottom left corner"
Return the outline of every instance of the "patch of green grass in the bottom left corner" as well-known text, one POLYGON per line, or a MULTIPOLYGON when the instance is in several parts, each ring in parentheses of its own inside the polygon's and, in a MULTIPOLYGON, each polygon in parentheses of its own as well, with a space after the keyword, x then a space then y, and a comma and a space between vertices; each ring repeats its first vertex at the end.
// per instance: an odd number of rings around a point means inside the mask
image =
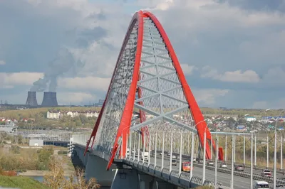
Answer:
POLYGON ((2 176, 0 175, 0 187, 21 188, 21 189, 48 189, 46 185, 24 176, 2 176))

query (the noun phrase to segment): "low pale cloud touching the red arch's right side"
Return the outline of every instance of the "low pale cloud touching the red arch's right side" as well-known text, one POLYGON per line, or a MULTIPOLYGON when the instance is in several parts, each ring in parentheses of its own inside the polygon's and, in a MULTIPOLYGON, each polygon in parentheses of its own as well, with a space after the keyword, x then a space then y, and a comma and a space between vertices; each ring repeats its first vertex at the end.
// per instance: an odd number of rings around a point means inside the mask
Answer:
POLYGON ((229 90, 220 89, 193 89, 192 91, 200 106, 215 105, 217 98, 224 97, 229 92, 229 90))

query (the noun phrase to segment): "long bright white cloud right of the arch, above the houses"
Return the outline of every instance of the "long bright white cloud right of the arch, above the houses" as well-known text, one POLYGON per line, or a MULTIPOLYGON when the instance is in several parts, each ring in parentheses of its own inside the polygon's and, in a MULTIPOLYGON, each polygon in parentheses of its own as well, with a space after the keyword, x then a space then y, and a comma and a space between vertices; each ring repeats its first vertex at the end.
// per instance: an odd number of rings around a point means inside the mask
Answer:
POLYGON ((257 83, 260 81, 259 75, 253 70, 236 70, 233 72, 227 71, 219 74, 218 70, 212 69, 209 66, 202 68, 201 77, 209 77, 213 80, 220 80, 222 82, 248 82, 257 83))

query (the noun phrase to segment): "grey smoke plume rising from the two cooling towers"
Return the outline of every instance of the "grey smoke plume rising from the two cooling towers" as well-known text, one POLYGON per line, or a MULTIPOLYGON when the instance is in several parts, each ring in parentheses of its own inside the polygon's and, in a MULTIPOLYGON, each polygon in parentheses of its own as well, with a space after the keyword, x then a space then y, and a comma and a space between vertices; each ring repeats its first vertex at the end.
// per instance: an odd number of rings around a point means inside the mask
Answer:
POLYGON ((49 92, 56 92, 58 77, 62 76, 66 72, 73 72, 76 75, 76 68, 83 68, 83 63, 73 58, 71 52, 67 48, 61 48, 58 51, 57 57, 48 63, 48 69, 44 72, 43 78, 33 82, 33 86, 30 91, 43 92, 48 86, 49 92))

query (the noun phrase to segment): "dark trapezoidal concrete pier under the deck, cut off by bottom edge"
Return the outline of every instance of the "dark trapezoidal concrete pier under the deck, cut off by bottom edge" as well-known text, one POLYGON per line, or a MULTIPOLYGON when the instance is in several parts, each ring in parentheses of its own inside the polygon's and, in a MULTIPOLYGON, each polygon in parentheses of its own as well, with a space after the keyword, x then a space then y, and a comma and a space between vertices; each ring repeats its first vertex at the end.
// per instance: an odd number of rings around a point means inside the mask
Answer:
POLYGON ((116 169, 111 189, 140 188, 138 171, 134 169, 116 169))

